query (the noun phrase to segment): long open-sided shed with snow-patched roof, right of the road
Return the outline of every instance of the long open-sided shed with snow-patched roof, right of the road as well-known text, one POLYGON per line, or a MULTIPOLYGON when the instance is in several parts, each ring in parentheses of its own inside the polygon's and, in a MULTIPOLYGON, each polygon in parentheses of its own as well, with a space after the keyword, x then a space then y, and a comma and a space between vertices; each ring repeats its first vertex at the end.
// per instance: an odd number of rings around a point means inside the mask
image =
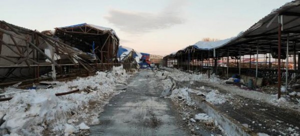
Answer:
POLYGON ((164 66, 208 71, 208 75, 213 71, 227 78, 238 73, 252 75, 255 81, 259 77, 276 80, 280 98, 281 78, 285 78, 287 86, 299 74, 299 5, 300 0, 285 3, 236 37, 209 42, 216 46, 207 47, 205 42, 199 42, 167 55, 164 66), (170 65, 172 62, 175 65, 170 65))

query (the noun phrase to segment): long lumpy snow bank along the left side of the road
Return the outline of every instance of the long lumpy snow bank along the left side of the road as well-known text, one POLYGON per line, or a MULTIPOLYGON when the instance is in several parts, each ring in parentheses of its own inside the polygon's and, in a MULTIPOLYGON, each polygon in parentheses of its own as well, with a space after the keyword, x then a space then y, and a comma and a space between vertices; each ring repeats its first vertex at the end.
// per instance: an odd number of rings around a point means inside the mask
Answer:
MULTIPOLYGON (((107 102, 108 96, 120 92, 115 91, 116 84, 125 83, 129 77, 122 66, 113 67, 108 73, 97 72, 94 76, 56 82, 51 89, 11 94, 13 98, 10 101, 0 102, 0 116, 5 115, 5 122, 0 129, 2 132, 4 129, 10 132, 10 135, 5 136, 40 136, 45 129, 68 136, 79 130, 88 130, 84 121, 78 122, 76 118, 92 118, 90 122, 85 121, 88 125, 97 123, 99 113, 83 110, 93 101, 107 102), (80 92, 57 97, 54 95, 75 89, 80 92)), ((97 111, 101 111, 101 107, 97 108, 97 111)))

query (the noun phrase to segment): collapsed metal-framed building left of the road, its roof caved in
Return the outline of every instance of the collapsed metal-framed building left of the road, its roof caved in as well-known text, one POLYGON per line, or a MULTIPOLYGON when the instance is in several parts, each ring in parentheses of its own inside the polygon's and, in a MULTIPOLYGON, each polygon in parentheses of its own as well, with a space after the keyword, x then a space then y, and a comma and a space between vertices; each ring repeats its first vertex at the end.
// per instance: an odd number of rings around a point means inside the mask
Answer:
POLYGON ((38 32, 0 21, 0 86, 109 70, 118 44, 111 28, 92 24, 38 32))

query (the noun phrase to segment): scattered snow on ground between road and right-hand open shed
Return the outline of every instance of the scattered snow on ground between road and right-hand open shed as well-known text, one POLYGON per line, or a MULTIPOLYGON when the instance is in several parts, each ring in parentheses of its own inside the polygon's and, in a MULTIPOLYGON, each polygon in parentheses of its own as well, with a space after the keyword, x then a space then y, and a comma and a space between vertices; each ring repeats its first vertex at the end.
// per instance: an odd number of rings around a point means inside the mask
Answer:
MULTIPOLYGON (((277 95, 268 94, 266 92, 249 91, 249 90, 244 90, 242 88, 239 88, 237 86, 227 85, 227 84, 225 84, 225 80, 221 80, 214 75, 210 76, 210 79, 208 79, 206 74, 189 74, 186 72, 179 71, 177 69, 169 69, 169 68, 165 68, 164 71, 157 71, 155 76, 161 80, 161 82, 164 84, 163 86, 165 88, 169 88, 171 86, 172 82, 177 82, 178 83, 177 88, 172 90, 170 93, 170 96, 167 96, 165 98, 170 98, 172 100, 177 100, 177 101, 178 101, 178 99, 179 100, 182 99, 186 102, 187 105, 193 105, 193 102, 189 98, 188 94, 195 93, 197 95, 203 96, 208 103, 215 105, 215 106, 220 106, 220 107, 222 107, 223 105, 226 105, 226 102, 228 105, 232 105, 233 104, 232 100, 242 99, 241 100, 241 102, 242 102, 242 101, 244 101, 244 99, 249 99, 249 100, 257 101, 256 103, 259 103, 261 105, 264 105, 266 103, 269 105, 279 107, 279 109, 288 109, 295 113, 298 113, 300 111, 300 102, 299 102, 299 104, 296 104, 294 102, 288 101, 289 96, 297 96, 298 95, 298 93, 296 93, 296 92, 291 92, 288 95, 286 95, 286 94, 281 95, 281 98, 277 99, 277 95), (166 77, 169 77, 169 78, 166 78, 166 77), (169 79, 172 79, 175 81, 172 81, 169 79), (200 87, 194 87, 194 86, 199 86, 199 85, 200 85, 200 87)), ((247 107, 248 104, 244 104, 244 106, 247 107)), ((253 109, 255 109, 255 108, 253 108, 253 109)), ((228 112, 228 111, 225 111, 225 112, 228 112)), ((201 114, 201 113, 197 114, 197 116, 195 116, 192 119, 192 122, 196 118, 206 119, 206 116, 205 116, 205 114, 201 114)), ((265 121, 264 121, 264 123, 265 123, 265 121)), ((279 126, 279 125, 280 124, 277 124, 277 126, 279 126)), ((261 124, 258 124, 258 126, 261 126, 261 124)), ((288 124, 286 126, 288 126, 288 124)), ((281 129, 280 131, 285 132, 285 135, 290 134, 290 136, 299 136, 298 127, 291 125, 287 129, 286 126, 284 126, 283 130, 281 129), (287 129, 287 130, 285 130, 285 129, 287 129)), ((253 127, 253 125, 252 125, 252 127, 253 127)), ((260 127, 260 128, 262 128, 262 127, 260 127)), ((276 128, 276 127, 274 127, 274 128, 276 128)), ((276 130, 273 130, 273 129, 271 131, 276 132, 276 130)), ((257 135, 268 136, 263 133, 257 133, 257 135)))

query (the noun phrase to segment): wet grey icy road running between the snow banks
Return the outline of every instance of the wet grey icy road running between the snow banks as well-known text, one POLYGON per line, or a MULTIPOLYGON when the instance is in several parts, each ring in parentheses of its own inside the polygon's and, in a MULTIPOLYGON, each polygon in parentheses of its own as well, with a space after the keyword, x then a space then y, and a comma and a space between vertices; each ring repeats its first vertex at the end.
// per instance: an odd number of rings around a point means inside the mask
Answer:
POLYGON ((189 136, 171 102, 159 98, 159 84, 152 71, 140 71, 104 107, 90 136, 189 136))

